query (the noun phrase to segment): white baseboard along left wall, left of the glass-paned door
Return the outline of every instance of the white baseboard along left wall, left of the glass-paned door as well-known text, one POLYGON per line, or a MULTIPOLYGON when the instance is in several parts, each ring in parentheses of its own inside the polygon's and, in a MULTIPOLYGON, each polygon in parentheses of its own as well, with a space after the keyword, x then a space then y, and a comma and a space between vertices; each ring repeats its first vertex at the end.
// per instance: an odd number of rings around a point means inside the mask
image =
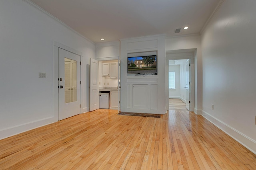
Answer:
POLYGON ((4 139, 4 138, 7 138, 7 137, 10 137, 10 136, 13 136, 13 135, 17 135, 19 133, 26 132, 26 131, 29 131, 31 129, 36 129, 38 127, 48 125, 48 124, 54 123, 54 122, 55 122, 54 117, 48 117, 48 118, 45 118, 45 119, 40 119, 40 120, 24 123, 24 124, 21 124, 21 125, 16 125, 16 126, 13 126, 13 127, 0 129, 0 139, 4 139))

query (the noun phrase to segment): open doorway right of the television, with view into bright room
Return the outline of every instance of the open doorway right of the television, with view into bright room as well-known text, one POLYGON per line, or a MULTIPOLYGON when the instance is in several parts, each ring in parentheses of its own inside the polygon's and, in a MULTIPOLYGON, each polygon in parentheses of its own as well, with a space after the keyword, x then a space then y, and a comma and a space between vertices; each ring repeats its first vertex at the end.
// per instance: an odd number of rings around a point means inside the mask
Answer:
POLYGON ((194 111, 194 52, 184 50, 166 52, 166 109, 179 108, 194 111))

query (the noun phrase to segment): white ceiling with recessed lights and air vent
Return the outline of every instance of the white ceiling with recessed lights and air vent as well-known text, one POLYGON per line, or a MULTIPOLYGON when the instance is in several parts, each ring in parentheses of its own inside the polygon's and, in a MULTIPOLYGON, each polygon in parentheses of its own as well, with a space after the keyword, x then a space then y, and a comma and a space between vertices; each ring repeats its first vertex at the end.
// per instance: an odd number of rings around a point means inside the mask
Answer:
POLYGON ((200 33, 220 0, 30 0, 94 43, 200 33), (188 26, 188 29, 183 27, 188 26), (174 33, 182 28, 180 33, 174 33), (104 41, 100 39, 104 38, 104 41))

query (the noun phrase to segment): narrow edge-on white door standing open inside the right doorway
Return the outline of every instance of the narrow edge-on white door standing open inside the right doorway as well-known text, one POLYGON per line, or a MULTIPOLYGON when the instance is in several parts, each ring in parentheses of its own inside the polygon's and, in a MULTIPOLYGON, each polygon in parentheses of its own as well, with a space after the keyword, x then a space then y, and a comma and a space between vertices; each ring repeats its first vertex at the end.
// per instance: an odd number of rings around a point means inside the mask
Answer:
POLYGON ((186 61, 186 108, 190 110, 190 59, 186 61))

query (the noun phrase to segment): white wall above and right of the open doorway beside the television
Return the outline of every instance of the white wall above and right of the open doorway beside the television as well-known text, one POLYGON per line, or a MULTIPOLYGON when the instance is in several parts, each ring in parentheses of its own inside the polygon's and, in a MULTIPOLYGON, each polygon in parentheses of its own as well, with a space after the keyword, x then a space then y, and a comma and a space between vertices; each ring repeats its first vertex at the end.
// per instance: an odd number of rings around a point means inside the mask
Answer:
MULTIPOLYGON (((166 53, 174 53, 183 49, 196 49, 194 51, 194 112, 201 114, 202 111, 202 53, 200 35, 181 37, 168 37, 165 40, 166 53)), ((173 54, 172 54, 173 56, 173 54)), ((166 57, 169 57, 166 55, 166 57)))

